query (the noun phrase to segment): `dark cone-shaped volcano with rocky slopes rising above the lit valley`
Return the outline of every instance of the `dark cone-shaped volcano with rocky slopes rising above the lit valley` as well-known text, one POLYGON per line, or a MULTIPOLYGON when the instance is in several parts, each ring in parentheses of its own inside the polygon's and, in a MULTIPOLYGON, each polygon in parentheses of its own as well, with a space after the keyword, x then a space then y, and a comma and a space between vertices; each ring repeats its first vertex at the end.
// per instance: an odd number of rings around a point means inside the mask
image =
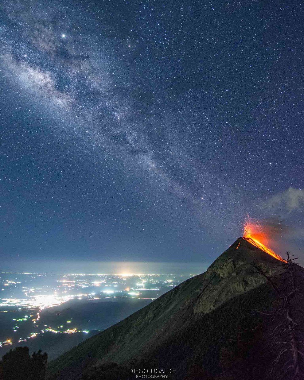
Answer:
POLYGON ((135 379, 130 369, 156 368, 174 369, 173 379, 264 379, 272 322, 252 310, 276 295, 255 266, 276 278, 285 265, 240 237, 203 274, 52 361, 49 378, 135 379))

